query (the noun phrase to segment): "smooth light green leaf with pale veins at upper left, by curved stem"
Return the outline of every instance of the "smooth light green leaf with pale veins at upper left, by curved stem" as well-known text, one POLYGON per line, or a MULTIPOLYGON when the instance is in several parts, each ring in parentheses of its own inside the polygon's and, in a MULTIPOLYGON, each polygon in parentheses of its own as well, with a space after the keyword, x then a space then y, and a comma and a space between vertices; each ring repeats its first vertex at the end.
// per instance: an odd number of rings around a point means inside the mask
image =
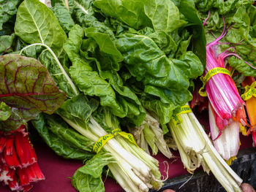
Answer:
MULTIPOLYGON (((59 26, 53 12, 45 4, 37 0, 23 1, 18 8, 15 34, 29 44, 42 43, 50 47, 53 53, 50 53, 49 49, 39 49, 39 47, 45 48, 44 46, 28 47, 23 53, 26 55, 29 52, 33 53, 33 57, 38 58, 47 67, 56 84, 67 93, 69 98, 78 94, 78 89, 66 72, 68 69, 65 69, 65 57, 67 55, 64 53, 64 42, 66 42, 67 36, 59 26), (34 7, 38 9, 34 9, 34 7)), ((31 53, 29 56, 32 56, 31 53)))

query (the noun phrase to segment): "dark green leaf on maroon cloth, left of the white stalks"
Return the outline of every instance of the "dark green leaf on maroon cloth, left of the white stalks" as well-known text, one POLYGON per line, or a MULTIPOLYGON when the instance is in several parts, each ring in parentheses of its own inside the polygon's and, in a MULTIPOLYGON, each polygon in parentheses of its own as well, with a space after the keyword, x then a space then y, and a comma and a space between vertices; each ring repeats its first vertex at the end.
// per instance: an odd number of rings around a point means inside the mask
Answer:
POLYGON ((46 144, 64 158, 87 160, 92 158, 94 142, 78 134, 59 115, 40 114, 32 120, 34 128, 46 144))

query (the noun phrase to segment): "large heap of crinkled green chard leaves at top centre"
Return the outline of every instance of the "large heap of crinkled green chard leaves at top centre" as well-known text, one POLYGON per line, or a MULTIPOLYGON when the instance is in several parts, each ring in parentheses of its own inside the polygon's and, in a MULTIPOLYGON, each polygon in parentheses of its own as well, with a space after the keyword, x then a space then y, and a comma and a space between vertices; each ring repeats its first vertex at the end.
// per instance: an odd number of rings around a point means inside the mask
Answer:
MULTIPOLYGON (((124 125, 141 127, 146 110, 152 113, 163 128, 152 136, 162 138, 171 116, 192 99, 188 88, 206 61, 202 22, 190 3, 121 1, 120 8, 115 1, 69 1, 73 20, 85 28, 73 27, 64 46, 75 84, 99 96, 100 104, 124 125), (110 96, 116 101, 110 103, 110 96)), ((171 156, 168 150, 162 152, 171 156)))

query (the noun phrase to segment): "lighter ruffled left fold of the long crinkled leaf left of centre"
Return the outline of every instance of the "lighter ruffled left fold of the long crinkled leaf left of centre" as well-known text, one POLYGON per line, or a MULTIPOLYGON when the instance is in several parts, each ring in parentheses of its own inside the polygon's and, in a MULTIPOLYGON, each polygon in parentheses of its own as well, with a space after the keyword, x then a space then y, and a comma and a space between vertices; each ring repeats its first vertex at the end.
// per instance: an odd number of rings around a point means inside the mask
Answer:
POLYGON ((113 113, 123 118, 125 115, 122 112, 122 106, 117 103, 116 93, 110 84, 99 77, 98 72, 94 71, 80 57, 80 43, 82 42, 83 36, 83 28, 76 25, 69 32, 69 39, 64 45, 64 49, 72 61, 72 66, 69 69, 72 80, 78 85, 80 91, 89 96, 99 96, 102 106, 112 108, 113 113))

